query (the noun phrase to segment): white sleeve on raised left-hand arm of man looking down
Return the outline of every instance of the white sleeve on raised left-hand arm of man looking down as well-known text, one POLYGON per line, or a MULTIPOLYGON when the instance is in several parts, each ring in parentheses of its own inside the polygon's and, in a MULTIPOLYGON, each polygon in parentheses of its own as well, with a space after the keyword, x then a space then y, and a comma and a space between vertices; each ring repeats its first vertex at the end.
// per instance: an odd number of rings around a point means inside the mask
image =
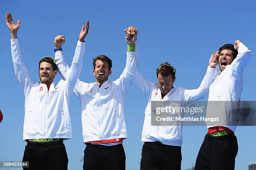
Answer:
POLYGON ((138 65, 136 64, 136 52, 126 52, 126 68, 128 73, 128 78, 133 82, 134 85, 143 93, 143 95, 148 99, 151 92, 151 86, 154 84, 148 82, 145 77, 141 75, 138 71, 138 65))

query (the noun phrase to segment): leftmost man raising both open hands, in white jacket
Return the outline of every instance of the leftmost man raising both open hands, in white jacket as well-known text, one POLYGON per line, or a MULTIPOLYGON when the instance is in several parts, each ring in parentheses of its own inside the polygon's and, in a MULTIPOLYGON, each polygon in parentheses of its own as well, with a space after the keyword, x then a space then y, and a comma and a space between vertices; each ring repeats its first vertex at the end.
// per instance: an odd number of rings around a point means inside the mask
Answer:
MULTIPOLYGON (((63 140, 72 138, 69 117, 69 97, 78 80, 84 56, 84 38, 88 33, 84 25, 79 35, 72 65, 67 72, 66 80, 57 85, 53 80, 57 74, 57 65, 51 57, 39 61, 41 82, 31 80, 23 63, 17 32, 20 20, 15 24, 10 13, 6 14, 6 24, 11 34, 11 52, 15 75, 25 95, 25 118, 23 140, 27 145, 23 161, 28 161, 26 170, 67 170, 68 157, 63 140)), ((61 46, 64 37, 56 42, 61 46)), ((38 48, 34 52, 35 55, 38 48)), ((61 48, 55 49, 56 55, 62 54, 61 48)))

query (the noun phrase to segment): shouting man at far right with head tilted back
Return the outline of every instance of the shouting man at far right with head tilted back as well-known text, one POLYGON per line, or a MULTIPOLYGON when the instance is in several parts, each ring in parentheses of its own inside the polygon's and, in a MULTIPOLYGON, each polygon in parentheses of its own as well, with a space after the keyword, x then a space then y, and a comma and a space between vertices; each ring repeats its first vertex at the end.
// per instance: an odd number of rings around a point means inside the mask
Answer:
POLYGON ((197 155, 195 170, 234 170, 238 143, 234 134, 239 121, 239 105, 243 90, 243 69, 251 50, 236 40, 235 45, 220 47, 214 82, 210 85, 207 117, 219 117, 215 124, 206 122, 208 133, 197 155))

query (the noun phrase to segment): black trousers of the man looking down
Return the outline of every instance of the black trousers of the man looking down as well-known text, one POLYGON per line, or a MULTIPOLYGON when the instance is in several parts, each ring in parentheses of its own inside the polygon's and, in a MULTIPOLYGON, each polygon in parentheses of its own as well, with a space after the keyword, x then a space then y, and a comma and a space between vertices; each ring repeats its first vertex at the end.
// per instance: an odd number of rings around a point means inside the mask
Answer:
POLYGON ((145 142, 141 153, 141 170, 180 170, 181 147, 160 142, 145 142))

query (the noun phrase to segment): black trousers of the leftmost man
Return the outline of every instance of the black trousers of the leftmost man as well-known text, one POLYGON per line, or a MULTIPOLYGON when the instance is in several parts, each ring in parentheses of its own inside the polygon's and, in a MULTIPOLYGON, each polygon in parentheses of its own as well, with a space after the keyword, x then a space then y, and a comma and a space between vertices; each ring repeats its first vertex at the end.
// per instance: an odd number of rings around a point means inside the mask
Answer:
POLYGON ((24 170, 67 170, 68 158, 63 141, 27 142, 22 161, 29 161, 24 170))

